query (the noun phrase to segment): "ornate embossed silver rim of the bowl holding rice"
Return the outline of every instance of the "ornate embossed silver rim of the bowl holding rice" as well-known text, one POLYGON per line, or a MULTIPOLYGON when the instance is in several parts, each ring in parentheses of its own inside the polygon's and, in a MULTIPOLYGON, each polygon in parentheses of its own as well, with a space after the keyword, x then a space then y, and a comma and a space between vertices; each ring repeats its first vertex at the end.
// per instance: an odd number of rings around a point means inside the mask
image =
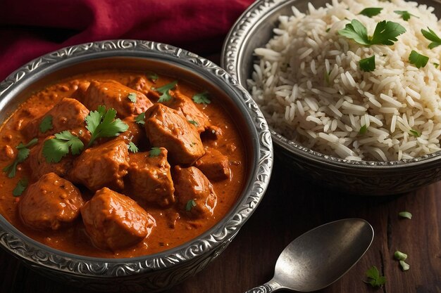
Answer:
MULTIPOLYGON (((251 38, 259 36, 256 30, 263 25, 275 25, 275 15, 277 15, 278 10, 281 8, 295 6, 299 2, 307 3, 311 0, 257 0, 247 8, 244 13, 237 19, 235 24, 228 32, 225 42, 223 43, 222 53, 221 53, 221 67, 235 79, 237 79, 240 84, 246 86, 246 80, 251 72, 243 72, 242 60, 247 58, 244 55, 245 51, 249 48, 249 41, 251 38)), ((313 1, 312 1, 313 2, 313 1)), ((316 1, 317 2, 317 1, 316 1)), ((328 0, 318 0, 321 4, 329 2, 328 0)), ((420 4, 441 4, 440 0, 423 0, 418 1, 420 4)), ((259 36, 260 37, 260 36, 259 36)), ((264 39, 262 44, 266 44, 269 39, 264 39)), ((253 48, 254 50, 254 48, 253 48)), ((273 142, 280 146, 286 152, 291 152, 297 157, 302 157, 308 159, 309 161, 316 162, 318 164, 324 164, 328 167, 335 167, 337 169, 347 169, 348 166, 360 171, 370 171, 370 170, 387 170, 390 167, 397 169, 408 169, 418 167, 423 169, 422 164, 437 164, 437 161, 441 159, 441 151, 433 152, 429 155, 423 155, 421 157, 416 157, 413 159, 402 159, 401 161, 389 161, 389 162, 378 162, 378 161, 354 161, 349 159, 341 159, 339 157, 334 157, 332 155, 324 155, 321 152, 316 152, 310 148, 306 148, 299 145, 295 141, 290 141, 285 136, 282 136, 271 129, 271 136, 273 142)))

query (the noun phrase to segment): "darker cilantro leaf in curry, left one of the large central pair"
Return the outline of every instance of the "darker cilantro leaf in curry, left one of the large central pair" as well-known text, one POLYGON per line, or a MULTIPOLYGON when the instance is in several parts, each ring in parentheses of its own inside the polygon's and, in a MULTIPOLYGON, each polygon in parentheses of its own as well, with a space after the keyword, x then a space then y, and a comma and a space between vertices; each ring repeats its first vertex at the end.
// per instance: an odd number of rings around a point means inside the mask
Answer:
POLYGON ((80 138, 67 130, 54 135, 55 138, 48 139, 43 144, 42 153, 46 158, 46 162, 58 163, 68 155, 69 148, 72 155, 78 155, 85 147, 80 138))

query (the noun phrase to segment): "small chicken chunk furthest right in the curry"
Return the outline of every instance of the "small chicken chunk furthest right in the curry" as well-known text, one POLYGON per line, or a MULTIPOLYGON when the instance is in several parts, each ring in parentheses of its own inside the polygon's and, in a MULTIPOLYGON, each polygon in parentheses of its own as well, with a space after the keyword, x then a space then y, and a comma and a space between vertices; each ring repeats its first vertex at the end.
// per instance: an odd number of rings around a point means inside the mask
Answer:
POLYGON ((205 155, 198 159, 194 166, 210 180, 219 181, 230 178, 228 157, 214 148, 206 148, 205 155))

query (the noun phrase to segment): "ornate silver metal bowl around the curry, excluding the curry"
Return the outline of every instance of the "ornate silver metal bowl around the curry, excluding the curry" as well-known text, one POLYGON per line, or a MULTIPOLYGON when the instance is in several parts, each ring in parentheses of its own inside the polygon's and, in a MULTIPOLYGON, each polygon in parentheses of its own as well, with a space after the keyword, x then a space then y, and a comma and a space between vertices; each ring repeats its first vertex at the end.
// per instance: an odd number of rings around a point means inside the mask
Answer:
POLYGON ((273 146, 266 120, 249 93, 209 60, 151 41, 99 41, 63 48, 27 63, 0 83, 0 121, 11 115, 30 92, 69 74, 109 67, 132 70, 151 64, 166 65, 187 82, 197 77, 222 92, 223 105, 243 126, 240 131, 247 145, 248 172, 231 211, 216 226, 184 245, 131 259, 99 259, 52 249, 23 235, 3 216, 0 247, 39 273, 78 287, 106 292, 157 292, 201 271, 228 246, 266 191, 273 146))

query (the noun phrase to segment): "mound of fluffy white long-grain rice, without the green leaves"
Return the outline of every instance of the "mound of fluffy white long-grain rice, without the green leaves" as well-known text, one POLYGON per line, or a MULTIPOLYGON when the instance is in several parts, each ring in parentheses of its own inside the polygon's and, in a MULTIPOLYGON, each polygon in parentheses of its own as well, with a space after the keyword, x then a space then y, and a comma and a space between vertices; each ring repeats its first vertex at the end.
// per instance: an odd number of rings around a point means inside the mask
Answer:
POLYGON ((292 7, 273 39, 254 51, 251 95, 273 130, 327 155, 392 161, 441 150, 441 46, 429 49, 421 33, 429 27, 441 37, 433 11, 403 0, 333 0, 325 8, 309 4, 307 14, 292 7), (383 11, 359 15, 372 7, 383 11), (392 46, 363 46, 338 34, 354 19, 369 36, 382 20, 406 32, 392 46), (425 67, 409 63, 412 50, 428 56, 425 67), (373 55, 375 70, 362 71, 359 60, 373 55))

